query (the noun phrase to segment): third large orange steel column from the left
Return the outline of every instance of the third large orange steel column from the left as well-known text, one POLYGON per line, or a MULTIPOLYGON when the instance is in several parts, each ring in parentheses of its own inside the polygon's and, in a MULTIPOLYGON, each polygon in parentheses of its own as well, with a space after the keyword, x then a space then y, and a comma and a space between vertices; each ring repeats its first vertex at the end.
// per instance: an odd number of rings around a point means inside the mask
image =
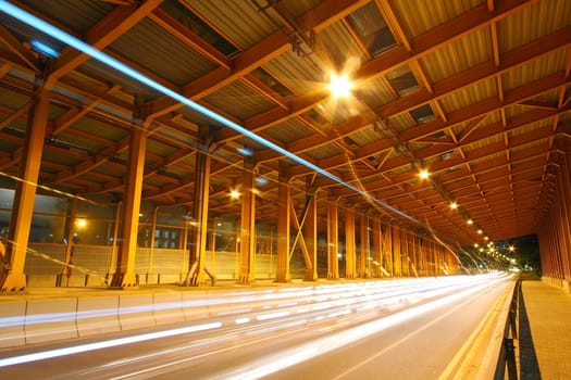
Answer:
MULTIPOLYGON (((208 147, 209 128, 199 127, 201 143, 208 147)), ((193 221, 190 226, 190 252, 186 286, 206 283, 204 259, 208 233, 208 200, 210 197, 210 154, 198 151, 195 167, 195 199, 193 201, 193 221)), ((186 246, 185 246, 186 250, 186 246)))

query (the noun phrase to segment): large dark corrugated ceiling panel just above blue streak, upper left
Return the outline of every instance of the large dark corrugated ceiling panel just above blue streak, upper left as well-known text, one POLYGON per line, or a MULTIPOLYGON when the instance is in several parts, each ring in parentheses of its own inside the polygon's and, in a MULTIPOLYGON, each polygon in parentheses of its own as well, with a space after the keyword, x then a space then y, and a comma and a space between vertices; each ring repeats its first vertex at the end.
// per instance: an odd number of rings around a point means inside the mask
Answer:
POLYGON ((120 56, 183 86, 216 67, 149 20, 144 20, 110 47, 120 56))

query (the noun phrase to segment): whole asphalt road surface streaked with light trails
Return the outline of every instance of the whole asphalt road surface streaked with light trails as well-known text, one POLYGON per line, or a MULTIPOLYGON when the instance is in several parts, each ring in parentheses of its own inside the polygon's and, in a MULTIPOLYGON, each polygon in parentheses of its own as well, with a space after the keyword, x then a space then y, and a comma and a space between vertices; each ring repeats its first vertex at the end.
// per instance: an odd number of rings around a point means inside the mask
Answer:
POLYGON ((3 350, 0 377, 439 379, 510 283, 458 276, 324 287, 256 312, 241 305, 193 324, 3 350))

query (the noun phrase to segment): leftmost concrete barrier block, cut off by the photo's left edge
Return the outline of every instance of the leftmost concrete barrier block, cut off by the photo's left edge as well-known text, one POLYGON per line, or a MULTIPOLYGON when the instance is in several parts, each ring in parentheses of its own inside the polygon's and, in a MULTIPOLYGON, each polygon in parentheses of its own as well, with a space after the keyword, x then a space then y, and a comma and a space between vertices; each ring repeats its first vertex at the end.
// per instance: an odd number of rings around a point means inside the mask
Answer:
POLYGON ((25 315, 26 301, 2 303, 0 307, 0 349, 26 344, 25 315))

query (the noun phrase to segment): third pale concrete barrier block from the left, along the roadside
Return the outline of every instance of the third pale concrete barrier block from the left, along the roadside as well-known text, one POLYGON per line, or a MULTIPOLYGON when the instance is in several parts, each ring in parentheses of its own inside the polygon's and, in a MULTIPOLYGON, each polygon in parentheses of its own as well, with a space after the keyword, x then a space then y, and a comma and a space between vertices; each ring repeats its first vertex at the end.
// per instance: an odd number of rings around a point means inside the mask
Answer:
POLYGON ((120 331, 119 295, 78 299, 76 320, 79 337, 120 331))

